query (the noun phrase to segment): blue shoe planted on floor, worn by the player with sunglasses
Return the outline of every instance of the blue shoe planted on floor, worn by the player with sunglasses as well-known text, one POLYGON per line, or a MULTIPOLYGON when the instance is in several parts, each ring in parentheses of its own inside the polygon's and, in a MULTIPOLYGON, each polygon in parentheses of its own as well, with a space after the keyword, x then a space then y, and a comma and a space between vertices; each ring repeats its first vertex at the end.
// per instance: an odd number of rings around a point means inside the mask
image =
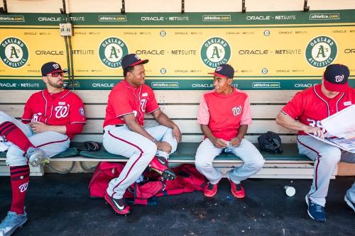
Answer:
POLYGON ((18 228, 22 227, 24 223, 27 221, 26 212, 23 215, 17 215, 13 211, 9 211, 4 220, 1 221, 0 224, 0 235, 1 236, 9 236, 18 228))

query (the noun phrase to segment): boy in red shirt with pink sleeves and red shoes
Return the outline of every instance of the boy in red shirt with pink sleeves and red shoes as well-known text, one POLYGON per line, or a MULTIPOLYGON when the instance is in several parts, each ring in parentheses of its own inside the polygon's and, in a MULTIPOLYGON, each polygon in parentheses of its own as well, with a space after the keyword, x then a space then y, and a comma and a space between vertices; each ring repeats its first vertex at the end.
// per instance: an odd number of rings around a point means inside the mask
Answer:
POLYGON ((241 167, 231 169, 226 174, 233 196, 244 198, 241 181, 256 174, 264 163, 258 149, 244 139, 251 124, 249 99, 242 91, 231 86, 234 69, 229 64, 221 64, 214 73, 209 74, 214 74, 214 90, 204 94, 200 101, 197 122, 201 125, 205 139, 197 149, 195 166, 209 181, 204 188, 204 196, 213 197, 217 193, 222 173, 213 167, 212 162, 228 148, 244 161, 241 167))

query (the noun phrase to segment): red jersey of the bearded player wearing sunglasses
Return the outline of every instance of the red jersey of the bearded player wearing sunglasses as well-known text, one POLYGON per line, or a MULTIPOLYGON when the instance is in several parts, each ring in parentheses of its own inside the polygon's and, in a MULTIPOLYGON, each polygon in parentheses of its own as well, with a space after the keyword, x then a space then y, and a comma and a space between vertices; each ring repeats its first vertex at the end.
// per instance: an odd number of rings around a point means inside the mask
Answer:
POLYGON ((23 123, 39 121, 47 125, 86 123, 82 100, 67 89, 58 94, 50 94, 47 89, 32 94, 26 102, 22 120, 23 123))

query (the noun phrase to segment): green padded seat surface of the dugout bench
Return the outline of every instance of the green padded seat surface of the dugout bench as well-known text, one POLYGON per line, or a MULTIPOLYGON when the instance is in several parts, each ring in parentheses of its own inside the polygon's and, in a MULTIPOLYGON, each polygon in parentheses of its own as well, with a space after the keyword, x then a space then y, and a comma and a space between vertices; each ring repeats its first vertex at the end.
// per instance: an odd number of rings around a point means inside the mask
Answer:
MULTIPOLYGON (((182 142, 178 145, 178 150, 175 153, 170 155, 170 163, 193 163, 195 159, 195 153, 197 147, 200 145, 199 142, 182 142)), ((273 154, 269 152, 261 152, 263 157, 266 159, 266 163, 305 163, 310 164, 312 160, 306 157, 305 155, 299 154, 296 144, 284 144, 282 154, 273 154)), ((81 157, 85 161, 87 159, 97 159, 98 161, 106 162, 126 162, 128 158, 122 157, 116 154, 111 154, 105 150, 99 150, 98 152, 87 152, 81 151, 81 157)), ((214 163, 241 163, 241 159, 236 157, 231 153, 222 153, 219 154, 214 163)))

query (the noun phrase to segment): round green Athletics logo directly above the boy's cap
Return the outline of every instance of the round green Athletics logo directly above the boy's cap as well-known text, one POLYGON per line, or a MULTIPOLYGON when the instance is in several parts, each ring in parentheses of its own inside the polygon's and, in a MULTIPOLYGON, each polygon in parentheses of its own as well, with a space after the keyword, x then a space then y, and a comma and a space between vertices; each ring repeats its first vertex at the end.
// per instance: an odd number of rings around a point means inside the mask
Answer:
POLYGON ((231 47, 223 38, 209 38, 202 44, 201 59, 207 67, 216 68, 231 58, 231 47))

